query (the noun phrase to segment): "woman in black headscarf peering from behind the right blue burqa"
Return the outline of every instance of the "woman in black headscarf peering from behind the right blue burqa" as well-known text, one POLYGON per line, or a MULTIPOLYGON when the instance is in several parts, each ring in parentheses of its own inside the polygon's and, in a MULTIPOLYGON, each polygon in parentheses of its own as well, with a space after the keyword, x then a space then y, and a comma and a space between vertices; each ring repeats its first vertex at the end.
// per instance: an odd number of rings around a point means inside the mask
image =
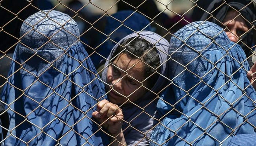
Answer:
POLYGON ((256 11, 252 0, 214 0, 200 20, 214 22, 225 28, 229 39, 237 42, 245 51, 249 65, 252 66, 251 54, 256 11), (211 15, 209 14, 211 13, 211 15), (241 41, 240 41, 241 40, 241 41))

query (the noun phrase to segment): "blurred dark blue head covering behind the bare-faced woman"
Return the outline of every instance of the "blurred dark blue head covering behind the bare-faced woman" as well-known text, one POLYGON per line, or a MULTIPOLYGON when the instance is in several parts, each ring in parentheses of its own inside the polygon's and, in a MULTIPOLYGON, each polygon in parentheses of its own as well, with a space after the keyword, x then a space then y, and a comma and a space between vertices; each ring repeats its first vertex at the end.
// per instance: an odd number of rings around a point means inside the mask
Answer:
MULTIPOLYGON (((118 11, 116 14, 109 16, 106 21, 104 33, 108 35, 108 37, 102 34, 100 43, 103 44, 96 49, 96 52, 105 58, 108 58, 112 48, 128 34, 136 31, 151 30, 148 19, 142 14, 131 10, 118 11)), ((106 59, 97 53, 91 56, 93 64, 96 67, 102 59, 104 62, 106 61, 106 59)))

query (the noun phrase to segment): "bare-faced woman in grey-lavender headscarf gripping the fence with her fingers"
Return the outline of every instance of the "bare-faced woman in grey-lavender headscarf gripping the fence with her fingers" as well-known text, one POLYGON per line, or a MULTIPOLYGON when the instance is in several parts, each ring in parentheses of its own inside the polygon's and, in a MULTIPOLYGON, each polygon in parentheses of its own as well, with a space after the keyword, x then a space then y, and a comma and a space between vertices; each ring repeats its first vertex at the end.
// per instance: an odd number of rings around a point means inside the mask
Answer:
POLYGON ((154 120, 157 93, 167 83, 164 76, 169 43, 154 32, 138 31, 118 44, 102 73, 109 101, 100 101, 93 116, 100 123, 110 117, 105 127, 120 145, 125 141, 129 146, 149 145, 150 133, 157 122, 154 120), (113 114, 116 116, 112 117, 113 114))

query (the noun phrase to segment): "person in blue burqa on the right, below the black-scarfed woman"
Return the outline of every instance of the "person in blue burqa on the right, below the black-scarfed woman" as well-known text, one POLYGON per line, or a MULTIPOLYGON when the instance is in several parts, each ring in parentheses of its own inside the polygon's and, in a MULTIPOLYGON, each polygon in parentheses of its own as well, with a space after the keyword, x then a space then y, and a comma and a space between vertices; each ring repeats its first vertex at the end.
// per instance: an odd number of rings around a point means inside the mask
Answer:
POLYGON ((242 48, 212 22, 193 22, 170 39, 171 86, 157 103, 151 145, 226 146, 255 134, 255 89, 242 48))

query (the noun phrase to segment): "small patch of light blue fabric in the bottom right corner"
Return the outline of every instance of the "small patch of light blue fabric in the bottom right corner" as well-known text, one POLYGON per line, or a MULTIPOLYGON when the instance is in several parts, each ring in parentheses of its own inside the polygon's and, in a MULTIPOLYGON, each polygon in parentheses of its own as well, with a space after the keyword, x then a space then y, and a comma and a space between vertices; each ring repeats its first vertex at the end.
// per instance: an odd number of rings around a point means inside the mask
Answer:
POLYGON ((233 137, 227 146, 256 146, 256 134, 239 134, 233 137))

